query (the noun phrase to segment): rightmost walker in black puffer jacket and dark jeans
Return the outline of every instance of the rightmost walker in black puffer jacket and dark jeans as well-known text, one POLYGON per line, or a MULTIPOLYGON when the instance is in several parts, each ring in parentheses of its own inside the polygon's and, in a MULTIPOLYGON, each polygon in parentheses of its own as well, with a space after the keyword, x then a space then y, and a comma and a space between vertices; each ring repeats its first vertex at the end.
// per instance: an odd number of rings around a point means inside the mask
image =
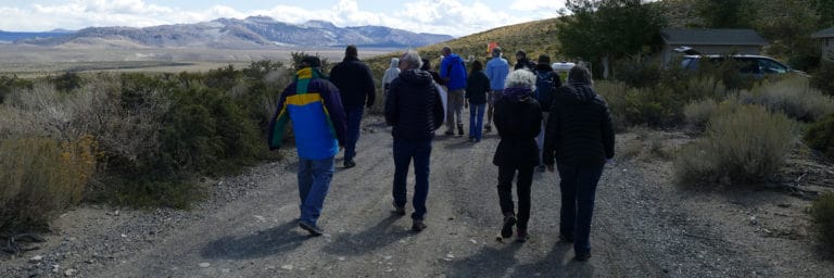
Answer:
POLYGON ((577 65, 568 86, 556 92, 544 137, 544 164, 553 172, 554 154, 561 181, 559 239, 573 242, 577 261, 591 257, 591 218, 596 185, 614 157, 614 128, 608 104, 596 94, 591 72, 577 65))

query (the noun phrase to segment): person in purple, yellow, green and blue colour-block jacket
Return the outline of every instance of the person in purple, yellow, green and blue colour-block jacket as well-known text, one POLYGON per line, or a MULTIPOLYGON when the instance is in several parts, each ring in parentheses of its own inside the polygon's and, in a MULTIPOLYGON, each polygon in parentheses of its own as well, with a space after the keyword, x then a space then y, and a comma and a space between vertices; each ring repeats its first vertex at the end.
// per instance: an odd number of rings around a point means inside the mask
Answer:
POLYGON ((269 121, 269 150, 281 148, 287 123, 292 121, 299 153, 299 226, 311 236, 321 236, 316 224, 330 180, 336 154, 345 140, 345 114, 339 89, 321 73, 316 56, 305 56, 292 84, 281 92, 278 109, 269 121))

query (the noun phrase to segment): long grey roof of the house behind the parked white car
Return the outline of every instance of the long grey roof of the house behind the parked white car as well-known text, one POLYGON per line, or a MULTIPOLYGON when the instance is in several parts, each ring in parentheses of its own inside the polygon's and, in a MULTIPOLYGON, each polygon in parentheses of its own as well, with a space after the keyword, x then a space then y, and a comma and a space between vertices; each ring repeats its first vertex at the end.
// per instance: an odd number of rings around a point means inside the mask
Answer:
POLYGON ((766 46, 768 40, 753 29, 662 29, 660 36, 669 45, 691 46, 766 46))

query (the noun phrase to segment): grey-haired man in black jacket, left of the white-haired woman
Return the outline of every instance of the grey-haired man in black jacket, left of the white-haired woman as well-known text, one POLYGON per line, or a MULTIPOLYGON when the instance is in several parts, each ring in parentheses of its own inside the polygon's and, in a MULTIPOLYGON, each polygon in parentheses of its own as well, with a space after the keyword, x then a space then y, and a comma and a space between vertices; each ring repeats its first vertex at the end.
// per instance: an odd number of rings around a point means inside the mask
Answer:
POLYGON ((443 103, 431 74, 421 71, 420 55, 406 51, 400 58, 400 75, 391 81, 386 100, 386 122, 394 137, 394 210, 405 215, 408 164, 414 160, 414 220, 412 229, 426 228, 426 199, 429 194, 429 159, 434 130, 443 125, 443 103))

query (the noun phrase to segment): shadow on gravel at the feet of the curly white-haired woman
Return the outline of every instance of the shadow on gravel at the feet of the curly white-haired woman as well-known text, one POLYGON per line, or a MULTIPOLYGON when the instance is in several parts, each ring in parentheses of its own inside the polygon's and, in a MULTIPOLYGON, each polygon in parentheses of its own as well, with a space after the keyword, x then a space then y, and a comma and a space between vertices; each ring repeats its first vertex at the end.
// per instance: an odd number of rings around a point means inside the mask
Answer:
MULTIPOLYGON (((456 261, 448 269, 448 277, 502 277, 507 268, 517 265, 516 252, 523 244, 513 242, 501 248, 484 247, 477 254, 456 261)), ((515 275, 513 277, 516 277, 515 275)), ((518 276, 532 277, 532 276, 518 276)), ((546 276, 544 276, 546 277, 546 276)))

